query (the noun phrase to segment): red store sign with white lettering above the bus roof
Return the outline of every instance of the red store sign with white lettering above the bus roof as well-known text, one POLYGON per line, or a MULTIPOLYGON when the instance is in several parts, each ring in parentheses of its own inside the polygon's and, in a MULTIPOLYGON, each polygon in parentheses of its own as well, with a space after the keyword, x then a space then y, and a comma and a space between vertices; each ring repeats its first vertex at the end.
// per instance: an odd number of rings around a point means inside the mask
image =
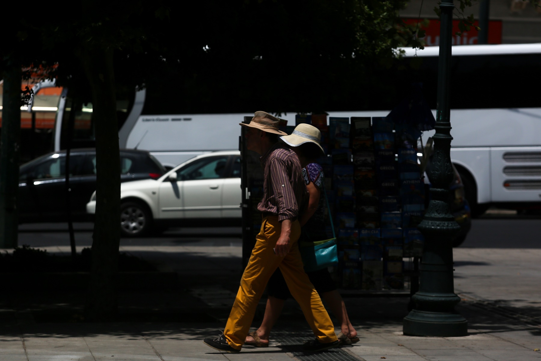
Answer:
MULTIPOLYGON (((403 19, 406 24, 417 24, 417 19, 406 18, 403 19)), ((439 28, 440 21, 439 19, 429 19, 427 27, 419 27, 426 31, 426 36, 421 38, 425 41, 425 46, 427 47, 437 47, 439 45, 439 28)), ((464 31, 462 36, 454 35, 458 29, 458 20, 453 20, 453 45, 471 45, 477 44, 477 38, 479 32, 471 27, 470 30, 464 31)), ((473 22, 474 25, 479 26, 479 21, 473 22)), ((501 44, 502 43, 502 21, 501 20, 491 20, 489 21, 489 44, 501 44)))

